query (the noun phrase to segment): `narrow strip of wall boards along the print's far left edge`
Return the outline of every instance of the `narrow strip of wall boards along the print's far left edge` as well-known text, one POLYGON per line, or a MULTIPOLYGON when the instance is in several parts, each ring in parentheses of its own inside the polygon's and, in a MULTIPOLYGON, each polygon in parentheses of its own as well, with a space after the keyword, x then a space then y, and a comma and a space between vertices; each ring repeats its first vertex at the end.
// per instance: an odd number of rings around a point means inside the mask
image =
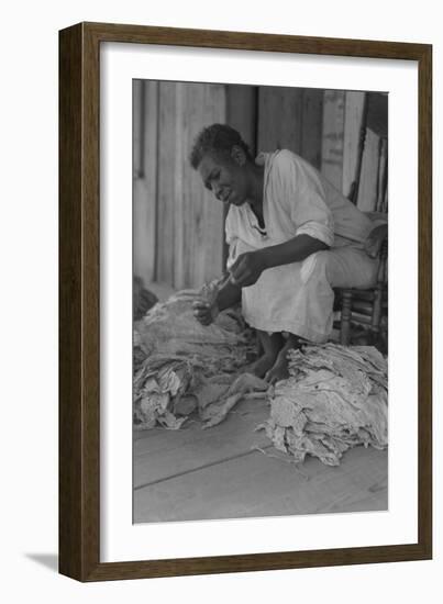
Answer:
POLYGON ((158 85, 133 82, 133 228, 134 273, 145 282, 155 273, 158 85))

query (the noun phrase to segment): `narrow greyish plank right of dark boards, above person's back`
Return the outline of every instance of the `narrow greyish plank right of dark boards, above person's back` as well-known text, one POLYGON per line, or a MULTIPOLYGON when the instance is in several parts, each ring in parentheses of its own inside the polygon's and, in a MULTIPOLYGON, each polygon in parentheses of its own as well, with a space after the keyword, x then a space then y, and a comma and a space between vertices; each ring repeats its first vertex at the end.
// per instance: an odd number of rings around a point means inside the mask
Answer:
POLYGON ((343 187, 344 108, 343 90, 324 91, 321 171, 339 191, 343 187))

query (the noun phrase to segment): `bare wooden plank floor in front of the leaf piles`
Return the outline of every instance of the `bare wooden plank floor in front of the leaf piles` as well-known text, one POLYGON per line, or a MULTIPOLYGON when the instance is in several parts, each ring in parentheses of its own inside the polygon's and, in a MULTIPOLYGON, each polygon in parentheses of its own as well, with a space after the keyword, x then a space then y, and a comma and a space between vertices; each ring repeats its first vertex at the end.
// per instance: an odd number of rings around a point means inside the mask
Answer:
POLYGON ((337 468, 296 466, 254 432, 268 413, 264 401, 244 401, 207 430, 193 422, 135 432, 134 522, 387 510, 387 451, 357 447, 337 468))

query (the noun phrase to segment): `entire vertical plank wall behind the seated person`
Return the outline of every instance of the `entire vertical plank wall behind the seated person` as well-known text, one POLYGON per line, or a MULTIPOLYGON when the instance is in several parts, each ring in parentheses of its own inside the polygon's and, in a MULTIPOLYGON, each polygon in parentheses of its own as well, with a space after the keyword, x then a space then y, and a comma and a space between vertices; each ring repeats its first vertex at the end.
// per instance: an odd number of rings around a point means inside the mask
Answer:
MULTIPOLYGON (((372 103, 373 121, 386 126, 387 100, 378 97, 372 103)), ((368 107, 365 98, 353 91, 135 81, 135 272, 145 283, 155 280, 181 289, 200 287, 224 268, 224 208, 188 164, 203 126, 231 124, 253 154, 289 148, 348 195, 368 107)), ((370 128, 357 205, 387 209, 387 143, 370 128)))

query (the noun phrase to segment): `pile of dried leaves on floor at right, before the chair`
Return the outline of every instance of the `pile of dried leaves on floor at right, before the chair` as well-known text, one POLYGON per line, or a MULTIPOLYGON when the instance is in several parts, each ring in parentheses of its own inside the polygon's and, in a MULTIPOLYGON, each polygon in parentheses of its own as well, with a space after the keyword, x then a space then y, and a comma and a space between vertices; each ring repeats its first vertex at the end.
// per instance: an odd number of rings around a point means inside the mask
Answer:
POLYGON ((287 380, 270 395, 259 428, 296 461, 337 466, 356 445, 388 445, 387 360, 372 346, 306 346, 289 353, 287 380))

